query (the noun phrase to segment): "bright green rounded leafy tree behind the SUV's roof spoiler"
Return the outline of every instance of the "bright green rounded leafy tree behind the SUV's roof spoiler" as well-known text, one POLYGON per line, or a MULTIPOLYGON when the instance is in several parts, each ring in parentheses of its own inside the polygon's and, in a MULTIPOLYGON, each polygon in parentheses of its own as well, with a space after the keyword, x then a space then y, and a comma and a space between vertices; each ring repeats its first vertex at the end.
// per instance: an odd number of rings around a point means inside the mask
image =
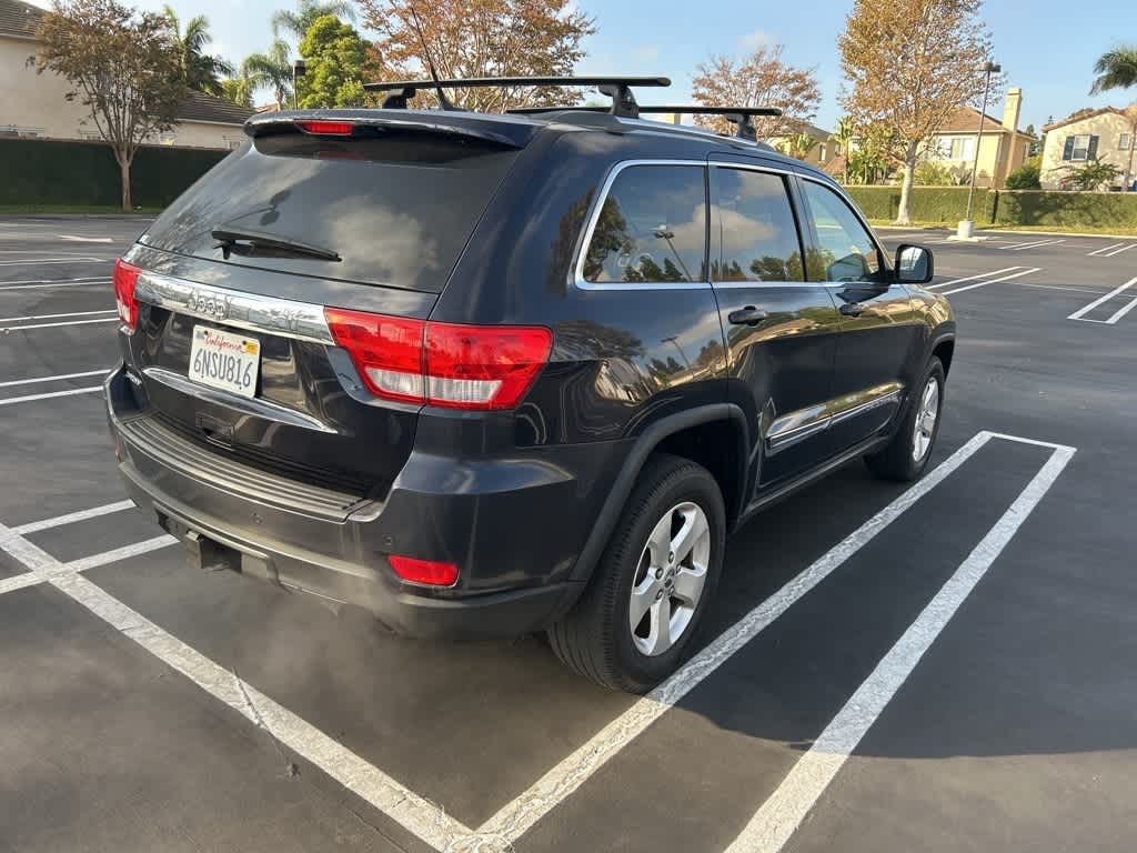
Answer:
POLYGON ((367 99, 367 42, 334 15, 316 18, 300 42, 306 69, 297 88, 302 109, 359 107, 367 99))

